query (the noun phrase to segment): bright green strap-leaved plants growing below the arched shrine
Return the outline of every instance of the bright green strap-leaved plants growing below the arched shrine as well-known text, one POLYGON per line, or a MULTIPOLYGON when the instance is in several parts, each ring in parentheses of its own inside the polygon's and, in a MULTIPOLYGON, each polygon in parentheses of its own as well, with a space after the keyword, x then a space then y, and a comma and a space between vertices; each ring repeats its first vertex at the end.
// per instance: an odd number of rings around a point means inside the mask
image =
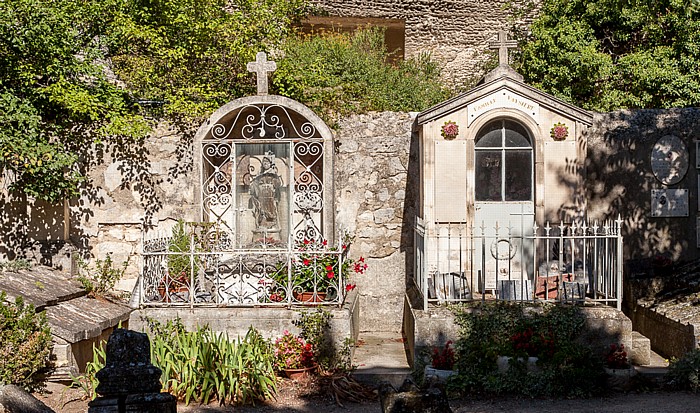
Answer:
POLYGON ((151 359, 163 371, 163 390, 187 404, 254 404, 276 392, 272 347, 252 327, 235 342, 209 327, 185 331, 179 319, 152 321, 151 333, 151 359))

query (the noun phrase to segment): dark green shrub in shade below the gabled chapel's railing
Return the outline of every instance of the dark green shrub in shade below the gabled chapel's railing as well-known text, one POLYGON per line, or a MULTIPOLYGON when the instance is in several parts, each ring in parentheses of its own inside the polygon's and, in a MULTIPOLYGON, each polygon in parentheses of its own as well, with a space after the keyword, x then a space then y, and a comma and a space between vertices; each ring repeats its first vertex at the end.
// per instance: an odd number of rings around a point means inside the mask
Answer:
POLYGON ((602 360, 577 341, 585 325, 577 307, 497 302, 454 311, 460 327, 459 374, 449 382, 450 390, 527 397, 585 397, 603 391, 602 360), (515 345, 527 331, 537 348, 515 345), (528 369, 525 357, 533 355, 539 357, 537 368, 528 369), (497 369, 499 356, 513 357, 506 374, 497 369))

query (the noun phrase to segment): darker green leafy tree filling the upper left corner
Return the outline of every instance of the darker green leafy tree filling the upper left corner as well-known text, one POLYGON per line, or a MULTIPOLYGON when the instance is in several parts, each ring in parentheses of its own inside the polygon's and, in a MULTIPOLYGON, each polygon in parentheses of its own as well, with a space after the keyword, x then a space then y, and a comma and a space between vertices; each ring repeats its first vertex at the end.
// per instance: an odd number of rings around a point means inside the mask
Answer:
POLYGON ((0 3, 0 173, 11 189, 49 201, 74 195, 78 148, 147 130, 103 64, 101 33, 116 4, 0 3))

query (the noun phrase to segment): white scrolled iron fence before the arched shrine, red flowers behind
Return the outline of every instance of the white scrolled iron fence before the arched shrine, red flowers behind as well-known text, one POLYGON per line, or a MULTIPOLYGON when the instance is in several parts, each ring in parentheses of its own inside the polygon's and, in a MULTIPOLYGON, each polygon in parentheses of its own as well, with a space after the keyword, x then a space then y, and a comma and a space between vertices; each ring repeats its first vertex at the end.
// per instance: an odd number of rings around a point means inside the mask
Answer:
POLYGON ((325 241, 258 248, 231 247, 230 234, 213 224, 193 225, 184 237, 143 239, 143 306, 340 305, 349 280, 347 247, 325 241), (183 240, 184 238, 184 240, 183 240))

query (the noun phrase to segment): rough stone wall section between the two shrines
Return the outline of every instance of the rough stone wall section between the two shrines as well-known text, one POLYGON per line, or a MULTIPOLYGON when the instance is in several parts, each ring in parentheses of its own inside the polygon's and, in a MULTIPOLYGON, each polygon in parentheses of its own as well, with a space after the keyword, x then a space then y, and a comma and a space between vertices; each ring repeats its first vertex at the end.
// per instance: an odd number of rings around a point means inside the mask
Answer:
POLYGON ((355 236, 351 256, 369 264, 357 277, 363 330, 401 330, 419 182, 413 121, 406 113, 352 116, 337 134, 336 224, 355 236))

